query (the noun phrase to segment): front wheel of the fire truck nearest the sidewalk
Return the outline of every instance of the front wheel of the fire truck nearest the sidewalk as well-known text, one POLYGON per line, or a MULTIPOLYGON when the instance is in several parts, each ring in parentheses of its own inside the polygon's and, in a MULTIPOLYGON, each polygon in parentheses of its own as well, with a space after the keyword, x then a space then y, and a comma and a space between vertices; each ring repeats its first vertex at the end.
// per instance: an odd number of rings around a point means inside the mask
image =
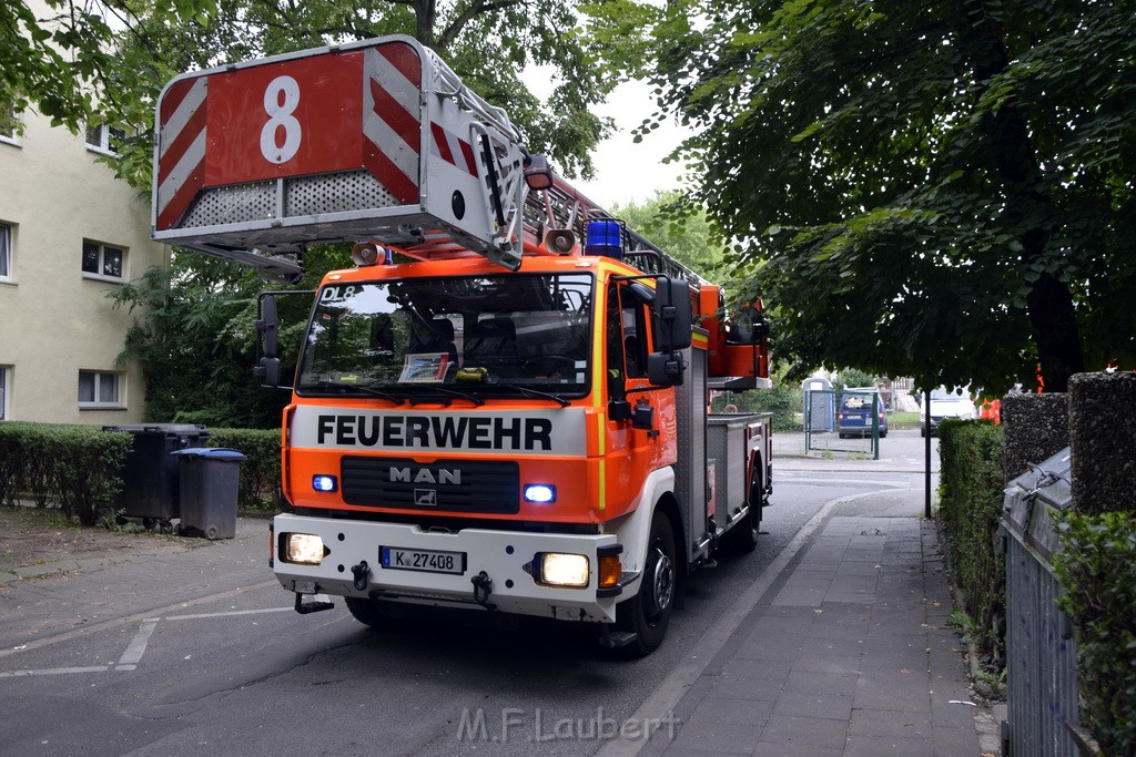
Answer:
POLYGON ((678 564, 675 560, 675 535, 670 520, 655 512, 651 521, 651 538, 646 547, 646 566, 638 594, 619 605, 616 626, 635 633, 635 641, 620 651, 627 657, 643 657, 659 648, 667 636, 670 613, 675 608, 678 564))

